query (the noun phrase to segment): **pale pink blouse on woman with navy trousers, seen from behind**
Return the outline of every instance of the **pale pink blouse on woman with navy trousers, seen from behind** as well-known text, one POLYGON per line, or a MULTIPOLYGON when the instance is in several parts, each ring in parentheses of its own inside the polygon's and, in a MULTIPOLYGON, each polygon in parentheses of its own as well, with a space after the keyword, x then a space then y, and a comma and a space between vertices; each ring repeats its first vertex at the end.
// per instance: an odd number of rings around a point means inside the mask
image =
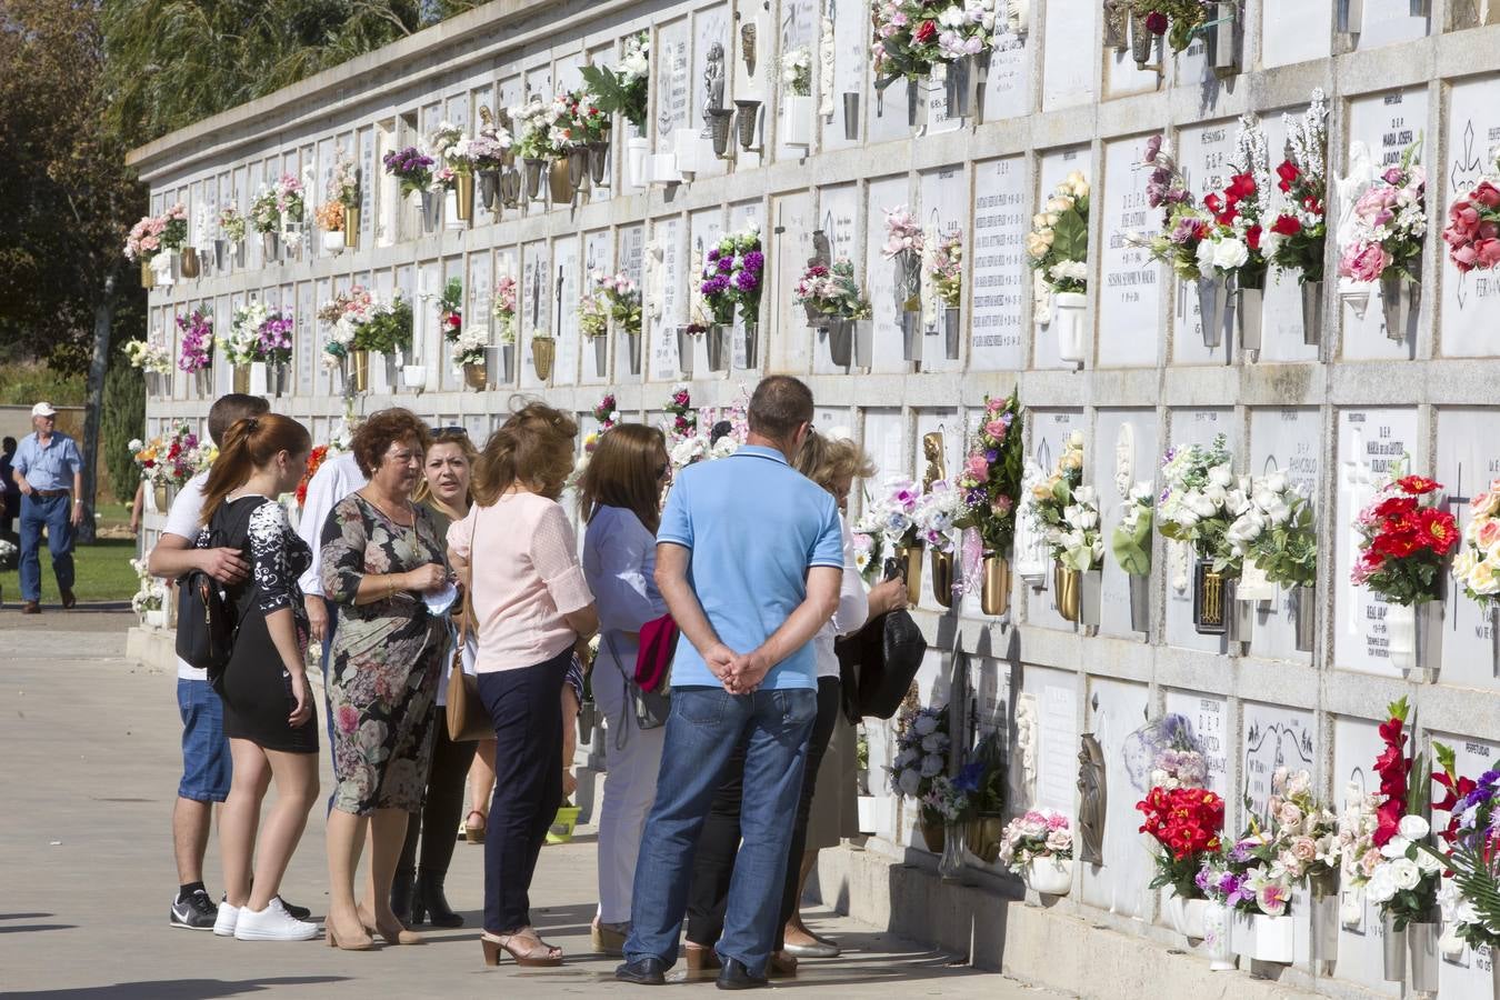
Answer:
POLYGON ((490 507, 474 504, 448 528, 448 547, 472 567, 477 673, 532 667, 573 645, 562 616, 594 595, 556 501, 510 493, 490 507))

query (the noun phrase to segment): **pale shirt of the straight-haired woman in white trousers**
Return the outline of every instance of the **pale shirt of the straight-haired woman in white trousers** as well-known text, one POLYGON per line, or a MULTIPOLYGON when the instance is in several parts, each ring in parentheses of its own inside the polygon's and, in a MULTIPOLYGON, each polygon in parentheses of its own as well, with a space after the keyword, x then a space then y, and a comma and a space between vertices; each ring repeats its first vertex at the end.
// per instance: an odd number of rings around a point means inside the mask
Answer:
POLYGON ((616 654, 626 675, 634 676, 639 633, 666 615, 656 588, 656 535, 624 507, 600 507, 584 535, 584 579, 598 612, 598 655, 615 670, 616 654))

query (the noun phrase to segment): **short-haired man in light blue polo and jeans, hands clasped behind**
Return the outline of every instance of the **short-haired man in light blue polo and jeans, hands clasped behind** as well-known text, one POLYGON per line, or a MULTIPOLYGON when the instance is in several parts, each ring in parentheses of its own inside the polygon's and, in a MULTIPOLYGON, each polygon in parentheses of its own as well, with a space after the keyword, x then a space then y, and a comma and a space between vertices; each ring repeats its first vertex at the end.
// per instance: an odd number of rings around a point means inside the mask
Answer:
POLYGON ((658 985, 676 961, 693 850, 724 765, 744 741, 742 844, 724 931, 722 990, 765 985, 776 943, 807 736, 818 714, 812 639, 838 607, 838 508, 788 465, 813 394, 784 375, 750 397, 734 456, 682 471, 657 532, 656 582, 682 630, 672 712, 636 865, 622 982, 658 985))

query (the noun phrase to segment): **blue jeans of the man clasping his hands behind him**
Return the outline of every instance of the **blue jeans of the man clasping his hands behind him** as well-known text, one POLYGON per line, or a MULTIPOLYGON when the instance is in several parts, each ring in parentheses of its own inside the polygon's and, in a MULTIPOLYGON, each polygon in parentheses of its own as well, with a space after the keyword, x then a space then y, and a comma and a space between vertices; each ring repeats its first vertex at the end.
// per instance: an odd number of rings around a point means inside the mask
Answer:
POLYGON ((627 961, 660 958, 668 967, 676 961, 698 835, 724 763, 746 739, 744 841, 717 951, 720 960, 735 958, 752 975, 765 973, 816 715, 818 691, 812 688, 754 694, 706 687, 672 690, 656 805, 636 862, 627 961))

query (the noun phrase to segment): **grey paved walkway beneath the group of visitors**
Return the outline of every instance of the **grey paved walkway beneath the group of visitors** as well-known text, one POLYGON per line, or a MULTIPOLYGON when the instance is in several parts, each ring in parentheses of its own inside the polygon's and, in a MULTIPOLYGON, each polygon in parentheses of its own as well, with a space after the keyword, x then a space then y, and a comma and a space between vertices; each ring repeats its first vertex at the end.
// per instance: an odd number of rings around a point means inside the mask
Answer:
MULTIPOLYGON (((468 918, 423 948, 346 954, 316 943, 240 943, 172 930, 170 817, 178 777, 174 678, 122 658, 134 618, 0 612, 0 994, 6 997, 561 997, 632 991, 615 960, 588 954, 594 835, 543 852, 532 892, 558 970, 486 969, 482 850, 460 844, 448 900, 468 918)), ((207 882, 222 879, 210 847, 207 882)), ((285 894, 327 906, 322 817, 292 859, 285 894)), ((782 990, 826 997, 1046 997, 825 910, 813 924, 846 955, 804 963, 782 990)), ((690 987, 699 996, 710 982, 690 987)), ((674 991, 672 996, 678 996, 674 991)))

